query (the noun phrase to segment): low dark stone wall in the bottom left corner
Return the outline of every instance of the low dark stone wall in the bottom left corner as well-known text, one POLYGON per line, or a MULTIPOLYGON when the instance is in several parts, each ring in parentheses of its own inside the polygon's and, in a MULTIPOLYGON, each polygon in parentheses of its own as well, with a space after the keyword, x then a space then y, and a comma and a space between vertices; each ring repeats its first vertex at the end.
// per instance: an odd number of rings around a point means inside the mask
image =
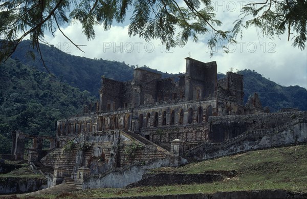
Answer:
POLYGON ((0 194, 33 192, 47 188, 47 179, 0 178, 0 194))

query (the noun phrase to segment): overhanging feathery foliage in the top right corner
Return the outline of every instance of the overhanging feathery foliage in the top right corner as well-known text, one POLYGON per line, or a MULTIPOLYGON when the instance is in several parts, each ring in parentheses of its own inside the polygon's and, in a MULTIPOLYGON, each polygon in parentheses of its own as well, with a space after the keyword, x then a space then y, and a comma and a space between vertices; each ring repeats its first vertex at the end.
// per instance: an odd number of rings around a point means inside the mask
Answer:
POLYGON ((250 3, 242 8, 243 17, 236 21, 233 33, 236 36, 242 28, 255 26, 270 38, 287 33, 289 41, 290 34, 293 34, 292 45, 304 50, 307 34, 306 9, 306 1, 269 0, 250 3))

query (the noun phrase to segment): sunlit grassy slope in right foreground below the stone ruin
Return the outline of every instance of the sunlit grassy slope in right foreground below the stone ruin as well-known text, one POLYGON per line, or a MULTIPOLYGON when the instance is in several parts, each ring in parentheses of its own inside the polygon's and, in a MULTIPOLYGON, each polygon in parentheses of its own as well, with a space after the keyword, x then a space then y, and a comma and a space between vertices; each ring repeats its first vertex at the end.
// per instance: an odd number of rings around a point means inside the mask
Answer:
POLYGON ((214 193, 218 191, 284 189, 307 192, 307 145, 250 151, 235 156, 191 163, 178 168, 159 168, 152 172, 204 173, 205 171, 236 170, 238 175, 222 182, 172 185, 160 187, 88 189, 43 198, 102 198, 118 196, 214 193))

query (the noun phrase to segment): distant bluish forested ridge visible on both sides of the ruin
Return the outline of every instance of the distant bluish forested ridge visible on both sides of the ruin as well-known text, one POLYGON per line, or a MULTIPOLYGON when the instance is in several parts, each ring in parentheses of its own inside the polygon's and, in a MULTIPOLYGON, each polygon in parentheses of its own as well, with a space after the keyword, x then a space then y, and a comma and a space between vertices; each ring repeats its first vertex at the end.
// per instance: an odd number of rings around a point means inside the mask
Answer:
MULTIPOLYGON (((29 56, 26 56, 27 51, 29 51, 29 43, 23 41, 12 57, 46 72, 37 52, 34 51, 36 60, 33 61, 29 56)), ((129 67, 127 64, 118 61, 73 56, 47 45, 41 45, 41 52, 51 73, 55 74, 61 81, 78 87, 80 91, 89 91, 97 97, 102 75, 118 81, 127 81, 133 78, 134 65, 129 67)), ((145 67, 145 69, 161 73, 163 78, 171 76, 148 67, 145 67)), ((257 92, 262 106, 268 106, 271 112, 276 112, 285 107, 307 110, 306 89, 299 86, 281 86, 251 70, 238 71, 237 73, 244 75, 245 103, 250 95, 257 92)), ((223 77, 225 77, 224 74, 217 74, 218 79, 223 77)))

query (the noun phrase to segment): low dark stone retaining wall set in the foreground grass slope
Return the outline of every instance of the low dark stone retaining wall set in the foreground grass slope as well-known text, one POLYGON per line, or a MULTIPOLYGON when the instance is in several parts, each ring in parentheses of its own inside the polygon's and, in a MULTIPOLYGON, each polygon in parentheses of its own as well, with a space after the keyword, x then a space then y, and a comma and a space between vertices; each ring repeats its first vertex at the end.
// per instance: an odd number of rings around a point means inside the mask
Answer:
POLYGON ((146 173, 143 179, 137 183, 128 185, 127 187, 143 187, 143 186, 164 186, 174 184, 201 184, 212 183, 215 181, 223 181, 221 174, 186 174, 186 173, 146 173))

